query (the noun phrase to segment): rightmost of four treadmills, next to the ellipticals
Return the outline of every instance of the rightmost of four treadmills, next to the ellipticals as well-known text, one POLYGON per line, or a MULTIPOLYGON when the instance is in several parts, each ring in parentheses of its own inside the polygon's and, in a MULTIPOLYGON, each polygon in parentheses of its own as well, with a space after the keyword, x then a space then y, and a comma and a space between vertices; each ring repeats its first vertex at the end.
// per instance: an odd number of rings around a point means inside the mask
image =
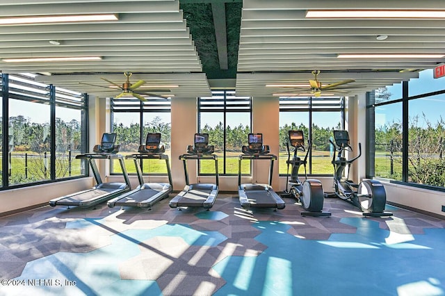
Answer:
POLYGON ((283 199, 272 188, 273 163, 277 156, 270 154, 268 145, 263 145, 262 133, 249 133, 248 143, 248 146, 242 148, 243 154, 238 156, 238 196, 241 207, 283 209, 285 206, 283 199), (241 162, 245 159, 270 161, 268 184, 241 184, 241 162))

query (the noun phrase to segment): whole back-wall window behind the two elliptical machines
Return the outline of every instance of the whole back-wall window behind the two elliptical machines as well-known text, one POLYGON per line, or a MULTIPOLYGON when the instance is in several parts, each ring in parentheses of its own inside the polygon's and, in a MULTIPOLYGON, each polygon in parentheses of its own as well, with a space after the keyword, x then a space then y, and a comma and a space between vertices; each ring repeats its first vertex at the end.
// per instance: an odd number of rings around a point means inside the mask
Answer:
MULTIPOLYGON (((329 139, 334 129, 343 128, 343 97, 280 98, 280 174, 287 172, 286 141, 288 131, 300 129, 312 149, 308 154, 308 174, 332 174, 332 151, 329 139)), ((300 157, 305 155, 300 152, 300 157)))

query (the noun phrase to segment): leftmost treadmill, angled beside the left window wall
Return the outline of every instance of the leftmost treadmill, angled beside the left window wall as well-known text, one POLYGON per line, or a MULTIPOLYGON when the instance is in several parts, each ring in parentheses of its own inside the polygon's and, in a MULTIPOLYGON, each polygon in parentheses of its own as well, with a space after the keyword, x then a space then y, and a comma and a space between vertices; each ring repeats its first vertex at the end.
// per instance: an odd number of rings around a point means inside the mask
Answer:
POLYGON ((80 192, 65 195, 51 199, 49 201, 50 206, 79 206, 81 208, 89 208, 102 202, 106 202, 108 199, 112 199, 124 192, 131 190, 130 181, 125 169, 124 158, 118 154, 120 145, 115 145, 116 134, 104 133, 100 145, 93 147, 92 154, 79 154, 76 159, 85 159, 91 167, 92 174, 95 176, 97 183, 91 189, 83 190, 80 192), (124 174, 124 183, 103 183, 97 169, 96 159, 116 159, 120 163, 122 173, 124 174))

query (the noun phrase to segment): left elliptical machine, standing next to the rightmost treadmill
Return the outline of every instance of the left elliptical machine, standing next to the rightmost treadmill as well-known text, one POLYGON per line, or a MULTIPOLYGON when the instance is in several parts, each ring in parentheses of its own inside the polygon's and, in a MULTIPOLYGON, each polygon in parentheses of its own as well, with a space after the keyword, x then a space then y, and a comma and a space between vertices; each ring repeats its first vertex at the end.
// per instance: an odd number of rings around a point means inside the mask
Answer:
POLYGON ((307 156, 311 149, 310 143, 307 149, 305 158, 302 160, 298 157, 298 151, 305 151, 305 137, 302 131, 289 131, 289 139, 286 141, 287 147, 287 174, 286 174, 286 190, 282 197, 293 197, 297 199, 307 212, 302 212, 303 216, 330 216, 331 213, 323 212, 324 192, 321 181, 315 179, 307 179, 307 156), (291 159, 291 149, 289 144, 293 147, 293 157, 291 159), (291 169, 291 179, 289 180, 289 166, 291 169), (301 182, 298 175, 298 170, 303 166, 305 168, 305 181, 301 182), (288 191, 288 185, 291 187, 288 191))

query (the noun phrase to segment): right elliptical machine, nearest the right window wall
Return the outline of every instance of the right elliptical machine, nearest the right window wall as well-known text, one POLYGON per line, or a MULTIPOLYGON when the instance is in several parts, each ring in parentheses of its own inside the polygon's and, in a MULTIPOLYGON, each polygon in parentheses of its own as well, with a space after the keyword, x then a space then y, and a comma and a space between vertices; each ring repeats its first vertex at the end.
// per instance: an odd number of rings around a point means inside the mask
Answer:
POLYGON ((334 165, 334 190, 335 192, 326 197, 339 197, 345 202, 352 204, 363 212, 365 217, 389 217, 392 213, 385 212, 387 195, 382 183, 372 179, 364 179, 359 184, 349 180, 350 165, 362 156, 362 145, 359 143, 359 155, 347 160, 344 157, 346 151, 353 151, 350 147, 348 131, 334 131, 334 142, 329 140, 335 147, 332 156, 334 165), (337 157, 336 157, 337 152, 337 157), (348 165, 348 176, 343 178, 343 172, 348 165))

